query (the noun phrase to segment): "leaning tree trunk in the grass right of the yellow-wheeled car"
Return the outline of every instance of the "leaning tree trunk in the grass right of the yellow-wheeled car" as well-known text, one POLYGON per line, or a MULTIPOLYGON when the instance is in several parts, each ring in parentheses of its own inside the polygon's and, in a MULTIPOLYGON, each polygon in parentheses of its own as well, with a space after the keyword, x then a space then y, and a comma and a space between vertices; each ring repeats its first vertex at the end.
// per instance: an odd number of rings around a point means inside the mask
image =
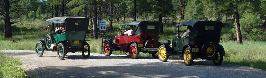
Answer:
POLYGON ((238 42, 238 44, 243 44, 241 30, 240 30, 238 11, 234 12, 234 17, 235 17, 235 27, 236 27, 236 33, 237 33, 237 42, 238 42))

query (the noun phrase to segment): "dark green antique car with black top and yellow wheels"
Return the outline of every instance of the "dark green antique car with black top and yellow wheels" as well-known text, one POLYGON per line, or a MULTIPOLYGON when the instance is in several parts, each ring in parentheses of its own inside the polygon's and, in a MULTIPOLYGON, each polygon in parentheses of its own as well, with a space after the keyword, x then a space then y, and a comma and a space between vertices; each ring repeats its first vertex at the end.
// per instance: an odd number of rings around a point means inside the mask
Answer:
POLYGON ((224 48, 219 44, 222 22, 215 21, 187 21, 177 24, 176 37, 171 41, 162 42, 159 46, 158 57, 167 61, 169 56, 184 57, 184 63, 191 66, 195 57, 212 60, 215 65, 221 65, 224 48), (191 26, 189 37, 181 38, 187 30, 181 31, 180 27, 191 26))

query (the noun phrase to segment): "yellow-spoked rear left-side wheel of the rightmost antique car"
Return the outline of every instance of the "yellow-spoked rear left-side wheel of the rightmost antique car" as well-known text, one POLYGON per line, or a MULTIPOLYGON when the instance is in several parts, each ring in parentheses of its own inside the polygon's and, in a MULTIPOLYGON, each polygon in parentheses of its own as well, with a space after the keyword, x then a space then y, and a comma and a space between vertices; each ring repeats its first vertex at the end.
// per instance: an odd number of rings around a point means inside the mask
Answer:
POLYGON ((185 50, 184 50, 184 63, 186 66, 191 66, 192 63, 193 63, 193 60, 195 59, 194 56, 192 56, 192 51, 189 49, 189 47, 187 47, 185 50))

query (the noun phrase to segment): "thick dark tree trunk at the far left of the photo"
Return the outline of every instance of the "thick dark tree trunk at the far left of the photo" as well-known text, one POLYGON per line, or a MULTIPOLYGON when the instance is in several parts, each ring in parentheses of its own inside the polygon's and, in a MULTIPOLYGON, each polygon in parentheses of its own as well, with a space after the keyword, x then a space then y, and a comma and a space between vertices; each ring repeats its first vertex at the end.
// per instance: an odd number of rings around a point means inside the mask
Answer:
POLYGON ((4 1, 4 12, 5 12, 5 38, 12 38, 12 32, 11 32, 11 22, 10 22, 10 16, 9 16, 9 0, 4 1))

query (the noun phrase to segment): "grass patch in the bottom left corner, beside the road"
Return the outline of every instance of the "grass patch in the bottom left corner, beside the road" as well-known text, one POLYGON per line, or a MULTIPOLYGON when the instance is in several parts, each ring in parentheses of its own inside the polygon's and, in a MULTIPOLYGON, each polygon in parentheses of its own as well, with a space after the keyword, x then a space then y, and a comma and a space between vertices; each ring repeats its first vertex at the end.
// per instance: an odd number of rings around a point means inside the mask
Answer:
POLYGON ((0 52, 0 58, 0 78, 28 78, 18 59, 7 57, 4 52, 0 52))

